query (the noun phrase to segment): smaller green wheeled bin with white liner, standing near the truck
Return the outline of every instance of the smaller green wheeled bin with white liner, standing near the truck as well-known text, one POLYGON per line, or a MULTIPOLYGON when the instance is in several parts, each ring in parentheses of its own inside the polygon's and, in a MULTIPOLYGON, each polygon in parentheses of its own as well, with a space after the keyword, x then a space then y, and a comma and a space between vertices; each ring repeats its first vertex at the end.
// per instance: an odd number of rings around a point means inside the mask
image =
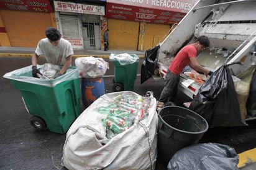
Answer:
POLYGON ((112 53, 109 59, 114 63, 113 91, 133 91, 137 78, 139 56, 127 53, 112 53))

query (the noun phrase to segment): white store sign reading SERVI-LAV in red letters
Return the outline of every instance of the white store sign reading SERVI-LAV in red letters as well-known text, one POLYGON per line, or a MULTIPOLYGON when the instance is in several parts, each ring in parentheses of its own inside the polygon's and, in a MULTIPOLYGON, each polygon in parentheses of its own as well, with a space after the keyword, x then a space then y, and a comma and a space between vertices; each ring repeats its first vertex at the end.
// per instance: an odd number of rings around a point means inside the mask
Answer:
POLYGON ((55 11, 75 12, 81 14, 105 15, 104 6, 93 6, 88 4, 76 4, 73 2, 54 1, 55 11))

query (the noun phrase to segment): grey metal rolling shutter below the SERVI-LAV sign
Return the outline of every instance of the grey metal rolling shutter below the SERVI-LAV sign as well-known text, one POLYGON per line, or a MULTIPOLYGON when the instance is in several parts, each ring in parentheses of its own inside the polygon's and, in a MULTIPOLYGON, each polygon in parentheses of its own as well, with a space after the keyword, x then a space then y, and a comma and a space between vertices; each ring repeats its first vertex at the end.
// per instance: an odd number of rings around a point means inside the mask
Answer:
POLYGON ((78 16, 60 14, 63 38, 80 38, 78 16))

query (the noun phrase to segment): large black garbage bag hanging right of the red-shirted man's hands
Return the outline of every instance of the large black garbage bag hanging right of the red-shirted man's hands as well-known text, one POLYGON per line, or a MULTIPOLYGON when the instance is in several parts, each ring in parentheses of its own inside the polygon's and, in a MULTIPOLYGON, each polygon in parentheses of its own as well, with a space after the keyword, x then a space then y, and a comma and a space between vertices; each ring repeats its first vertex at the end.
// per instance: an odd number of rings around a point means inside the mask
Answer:
MULTIPOLYGON (((234 65, 237 63, 232 63, 234 65)), ((188 108, 208 121, 209 127, 247 125, 241 119, 239 102, 229 65, 217 69, 200 87, 188 108)))

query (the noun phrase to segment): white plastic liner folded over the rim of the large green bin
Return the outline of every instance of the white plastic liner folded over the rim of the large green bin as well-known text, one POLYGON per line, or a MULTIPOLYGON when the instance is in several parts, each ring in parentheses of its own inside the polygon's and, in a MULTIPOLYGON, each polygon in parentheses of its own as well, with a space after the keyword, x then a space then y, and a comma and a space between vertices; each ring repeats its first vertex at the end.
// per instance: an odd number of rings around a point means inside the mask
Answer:
MULTIPOLYGON (((37 69, 41 69, 42 65, 37 65, 37 69)), ((77 79, 79 78, 78 74, 78 69, 74 66, 70 66, 66 70, 66 73, 63 74, 63 76, 60 76, 56 79, 39 79, 39 78, 34 78, 32 76, 32 65, 30 66, 25 66, 24 68, 16 69, 14 71, 8 72, 4 74, 3 76, 6 79, 12 79, 15 81, 21 81, 25 83, 31 83, 31 84, 38 84, 41 86, 47 86, 47 87, 54 87, 59 83, 62 83, 63 81, 69 81, 72 79, 77 79)))

